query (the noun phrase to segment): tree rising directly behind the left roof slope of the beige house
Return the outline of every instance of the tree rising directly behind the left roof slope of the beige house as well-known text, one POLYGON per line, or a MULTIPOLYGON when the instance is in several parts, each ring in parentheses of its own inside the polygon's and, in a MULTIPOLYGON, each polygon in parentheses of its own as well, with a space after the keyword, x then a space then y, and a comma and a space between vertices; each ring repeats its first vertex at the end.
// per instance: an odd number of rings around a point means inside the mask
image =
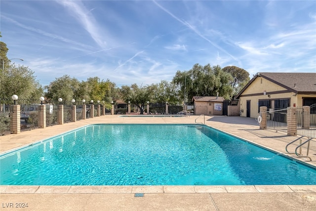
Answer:
POLYGON ((227 66, 222 69, 224 72, 230 73, 233 80, 230 81, 234 89, 234 95, 237 94, 245 84, 250 81, 249 73, 242 68, 236 66, 227 66))

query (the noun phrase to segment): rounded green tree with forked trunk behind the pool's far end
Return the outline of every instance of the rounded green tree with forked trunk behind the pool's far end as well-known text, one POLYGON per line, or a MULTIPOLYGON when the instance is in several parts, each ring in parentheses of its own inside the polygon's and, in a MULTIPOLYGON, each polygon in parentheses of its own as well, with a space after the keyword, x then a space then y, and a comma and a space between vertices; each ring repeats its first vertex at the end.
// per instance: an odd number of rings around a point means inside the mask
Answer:
POLYGON ((136 105, 140 109, 140 114, 144 113, 145 104, 153 98, 155 87, 153 85, 131 86, 123 85, 120 89, 123 100, 127 103, 136 105))

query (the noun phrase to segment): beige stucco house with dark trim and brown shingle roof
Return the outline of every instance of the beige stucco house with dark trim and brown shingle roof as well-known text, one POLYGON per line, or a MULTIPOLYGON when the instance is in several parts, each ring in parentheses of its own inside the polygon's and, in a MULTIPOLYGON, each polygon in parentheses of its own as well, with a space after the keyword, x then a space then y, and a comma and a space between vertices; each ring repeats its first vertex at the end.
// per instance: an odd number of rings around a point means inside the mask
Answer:
POLYGON ((283 109, 316 104, 316 73, 257 73, 236 95, 240 116, 255 118, 260 106, 283 109))

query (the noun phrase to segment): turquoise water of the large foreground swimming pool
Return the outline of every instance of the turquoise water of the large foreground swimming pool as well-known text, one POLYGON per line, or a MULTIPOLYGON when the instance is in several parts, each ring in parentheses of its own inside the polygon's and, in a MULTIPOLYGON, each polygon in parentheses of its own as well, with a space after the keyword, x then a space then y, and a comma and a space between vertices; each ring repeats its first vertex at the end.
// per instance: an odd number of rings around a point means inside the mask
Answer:
POLYGON ((0 184, 316 184, 316 169, 202 125, 91 125, 2 154, 0 184))

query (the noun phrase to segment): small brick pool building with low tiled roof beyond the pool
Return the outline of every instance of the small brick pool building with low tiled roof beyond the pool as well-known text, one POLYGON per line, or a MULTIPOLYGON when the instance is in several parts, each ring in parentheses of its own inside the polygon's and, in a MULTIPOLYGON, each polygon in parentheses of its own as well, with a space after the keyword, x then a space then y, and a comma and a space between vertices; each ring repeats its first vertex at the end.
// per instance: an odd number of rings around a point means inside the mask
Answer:
POLYGON ((194 115, 223 115, 224 97, 194 96, 194 115))

